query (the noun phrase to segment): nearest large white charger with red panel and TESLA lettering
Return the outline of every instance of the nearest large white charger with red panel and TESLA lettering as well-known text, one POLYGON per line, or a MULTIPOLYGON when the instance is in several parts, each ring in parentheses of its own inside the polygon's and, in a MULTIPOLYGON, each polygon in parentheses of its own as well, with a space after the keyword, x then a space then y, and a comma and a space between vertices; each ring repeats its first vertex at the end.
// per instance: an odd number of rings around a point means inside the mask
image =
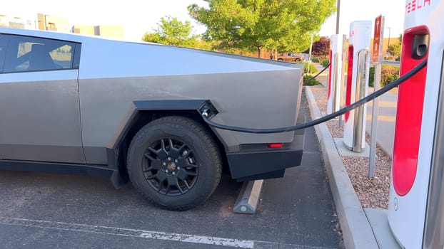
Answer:
POLYGON ((388 222, 405 248, 444 245, 444 1, 405 4, 388 222))

